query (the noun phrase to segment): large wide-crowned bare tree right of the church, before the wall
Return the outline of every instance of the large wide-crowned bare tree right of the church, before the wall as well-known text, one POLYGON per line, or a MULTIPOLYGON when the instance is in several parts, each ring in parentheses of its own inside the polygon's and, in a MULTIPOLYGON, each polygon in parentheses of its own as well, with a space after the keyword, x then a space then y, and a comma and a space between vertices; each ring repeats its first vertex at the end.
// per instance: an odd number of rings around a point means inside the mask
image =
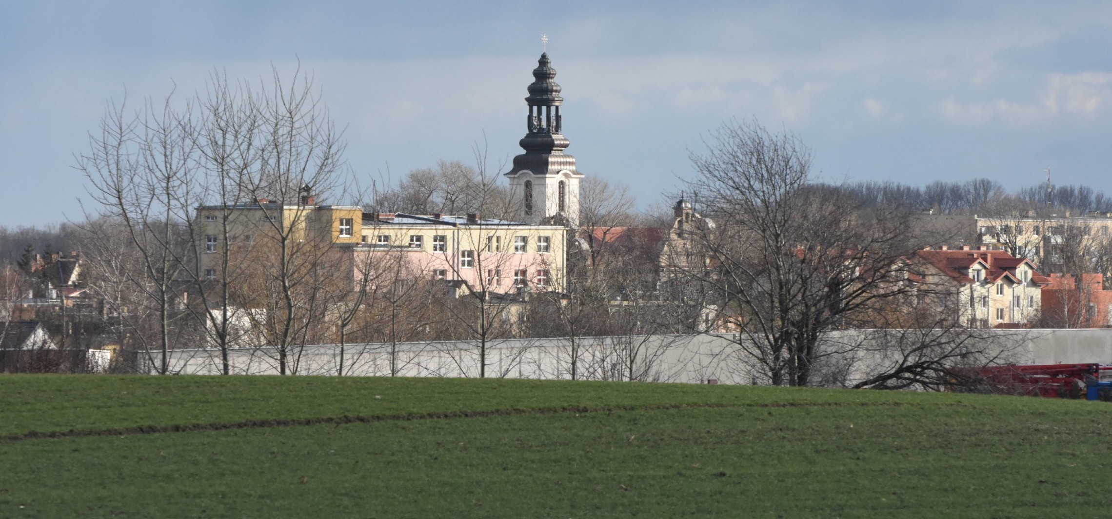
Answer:
POLYGON ((705 261, 686 275, 713 288, 704 306, 773 385, 806 386, 822 336, 905 293, 906 214, 867 214, 811 189, 811 152, 791 133, 727 123, 692 154, 688 188, 714 226, 692 230, 705 261), (707 268, 703 268, 703 267, 707 268))

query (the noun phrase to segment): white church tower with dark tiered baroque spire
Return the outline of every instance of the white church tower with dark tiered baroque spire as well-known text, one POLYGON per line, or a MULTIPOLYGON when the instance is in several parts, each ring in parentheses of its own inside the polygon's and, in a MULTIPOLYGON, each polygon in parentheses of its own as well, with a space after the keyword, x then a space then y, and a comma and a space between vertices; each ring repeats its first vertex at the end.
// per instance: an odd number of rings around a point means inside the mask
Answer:
POLYGON ((528 132, 519 142, 525 153, 514 157, 514 168, 506 173, 515 197, 520 197, 520 219, 528 223, 579 222, 579 179, 575 157, 564 153, 570 144, 560 133, 563 119, 559 84, 548 53, 540 54, 529 84, 526 118, 528 132))

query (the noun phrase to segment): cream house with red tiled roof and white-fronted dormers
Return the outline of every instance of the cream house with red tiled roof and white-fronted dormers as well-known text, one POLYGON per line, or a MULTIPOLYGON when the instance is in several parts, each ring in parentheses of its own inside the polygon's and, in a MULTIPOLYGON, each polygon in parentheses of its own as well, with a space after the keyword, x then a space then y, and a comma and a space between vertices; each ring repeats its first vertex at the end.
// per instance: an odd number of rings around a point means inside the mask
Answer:
POLYGON ((917 281, 939 287, 953 311, 967 327, 1027 326, 1042 311, 1042 288, 1050 280, 1025 258, 986 247, 923 249, 915 252, 917 281))

